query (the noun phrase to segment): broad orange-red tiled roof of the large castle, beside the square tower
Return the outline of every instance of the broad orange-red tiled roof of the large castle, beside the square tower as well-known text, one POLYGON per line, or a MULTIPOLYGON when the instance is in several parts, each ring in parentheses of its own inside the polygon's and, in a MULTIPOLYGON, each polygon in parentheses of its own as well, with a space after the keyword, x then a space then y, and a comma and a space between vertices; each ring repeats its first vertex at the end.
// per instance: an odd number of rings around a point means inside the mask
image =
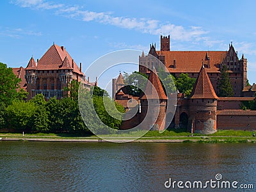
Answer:
POLYGON ((157 51, 157 54, 165 56, 165 65, 169 72, 195 72, 197 73, 202 67, 202 61, 207 65, 205 56, 209 58, 209 68, 206 72, 220 72, 220 63, 227 56, 227 51, 157 51), (175 68, 169 67, 173 65, 175 68))

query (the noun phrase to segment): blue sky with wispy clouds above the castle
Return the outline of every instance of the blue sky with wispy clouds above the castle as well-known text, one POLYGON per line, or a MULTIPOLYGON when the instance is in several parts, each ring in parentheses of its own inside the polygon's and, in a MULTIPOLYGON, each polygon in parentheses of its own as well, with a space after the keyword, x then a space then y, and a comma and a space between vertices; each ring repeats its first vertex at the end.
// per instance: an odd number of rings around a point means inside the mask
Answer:
MULTIPOLYGON (((256 83, 256 1, 0 1, 0 62, 26 67, 53 42, 63 45, 83 72, 93 61, 122 49, 159 50, 160 35, 173 51, 227 51, 232 42, 248 60, 256 83)), ((104 64, 102 64, 104 65, 104 64)), ((122 67, 112 71, 113 77, 122 67)), ((90 81, 95 81, 93 74, 90 81)), ((110 81, 110 80, 109 80, 110 81)))

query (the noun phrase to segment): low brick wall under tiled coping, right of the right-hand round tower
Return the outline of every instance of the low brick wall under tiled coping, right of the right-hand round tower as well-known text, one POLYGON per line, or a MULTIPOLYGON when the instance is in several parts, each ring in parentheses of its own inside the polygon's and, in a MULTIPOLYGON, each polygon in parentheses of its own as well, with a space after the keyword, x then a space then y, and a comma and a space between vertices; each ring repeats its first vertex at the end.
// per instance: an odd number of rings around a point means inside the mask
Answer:
POLYGON ((217 115, 218 129, 256 130, 256 115, 217 115))

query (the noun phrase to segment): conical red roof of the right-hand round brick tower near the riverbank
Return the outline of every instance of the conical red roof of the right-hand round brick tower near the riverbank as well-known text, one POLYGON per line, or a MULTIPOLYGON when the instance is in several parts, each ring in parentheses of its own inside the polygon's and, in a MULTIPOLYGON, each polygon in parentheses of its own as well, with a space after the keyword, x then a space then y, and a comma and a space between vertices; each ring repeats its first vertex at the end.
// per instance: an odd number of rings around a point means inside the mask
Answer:
POLYGON ((218 99, 204 65, 202 65, 190 99, 218 99))

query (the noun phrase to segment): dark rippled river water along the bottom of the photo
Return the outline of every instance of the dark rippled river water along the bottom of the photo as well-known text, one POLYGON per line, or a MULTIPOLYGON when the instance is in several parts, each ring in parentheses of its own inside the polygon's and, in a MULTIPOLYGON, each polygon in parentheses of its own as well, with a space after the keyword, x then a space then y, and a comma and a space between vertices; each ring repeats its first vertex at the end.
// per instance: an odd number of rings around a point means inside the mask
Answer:
POLYGON ((256 188, 256 145, 1 141, 0 171, 0 191, 175 191, 170 177, 217 173, 256 188))

